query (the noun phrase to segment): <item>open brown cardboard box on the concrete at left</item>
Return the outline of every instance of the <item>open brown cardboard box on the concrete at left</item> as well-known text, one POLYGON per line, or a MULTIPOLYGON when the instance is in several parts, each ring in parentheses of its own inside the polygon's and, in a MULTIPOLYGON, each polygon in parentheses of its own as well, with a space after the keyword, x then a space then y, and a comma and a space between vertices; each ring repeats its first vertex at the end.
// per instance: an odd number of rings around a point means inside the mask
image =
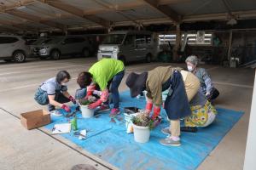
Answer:
POLYGON ((36 127, 42 127, 50 123, 50 114, 48 111, 44 110, 29 111, 21 113, 20 116, 21 124, 28 130, 36 127))

